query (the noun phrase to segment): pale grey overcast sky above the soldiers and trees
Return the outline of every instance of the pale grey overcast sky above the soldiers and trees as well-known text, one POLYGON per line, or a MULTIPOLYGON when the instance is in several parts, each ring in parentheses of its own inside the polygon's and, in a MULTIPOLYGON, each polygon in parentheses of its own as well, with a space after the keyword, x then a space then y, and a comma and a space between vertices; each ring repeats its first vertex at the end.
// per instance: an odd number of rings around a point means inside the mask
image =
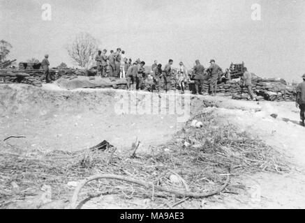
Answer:
POLYGON ((0 39, 13 45, 10 59, 43 59, 73 66, 65 45, 85 31, 101 49, 174 66, 216 59, 222 68, 244 61, 262 77, 301 79, 305 72, 304 0, 0 0, 0 39), (42 20, 43 3, 52 20, 42 20), (261 5, 261 20, 251 6, 261 5))

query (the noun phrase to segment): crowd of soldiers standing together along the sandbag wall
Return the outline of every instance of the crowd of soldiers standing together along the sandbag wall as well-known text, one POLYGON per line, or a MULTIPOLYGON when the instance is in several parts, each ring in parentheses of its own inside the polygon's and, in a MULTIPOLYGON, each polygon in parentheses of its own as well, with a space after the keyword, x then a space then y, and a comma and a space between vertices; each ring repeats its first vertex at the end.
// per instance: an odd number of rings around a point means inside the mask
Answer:
MULTIPOLYGON (((98 55, 96 56, 98 75, 101 75, 102 77, 108 75, 111 77, 126 78, 128 89, 139 90, 144 82, 149 82, 150 80, 154 85, 151 87, 151 91, 156 89, 158 93, 160 93, 161 89, 165 89, 165 91, 170 89, 169 79, 171 75, 174 75, 172 70, 172 59, 168 61, 164 69, 162 68, 161 63, 154 61, 154 64, 151 66, 152 73, 151 75, 147 75, 147 72, 145 72, 144 69, 145 62, 140 61, 140 59, 137 59, 132 63, 131 59, 124 57, 124 64, 121 66, 122 55, 125 53, 124 51, 121 51, 121 48, 117 48, 117 52, 111 50, 109 56, 106 56, 106 53, 107 50, 104 49, 103 52, 98 51, 98 55)), ((177 69, 177 72, 175 72, 175 75, 177 75, 176 80, 181 89, 181 93, 184 93, 186 83, 192 80, 195 82, 195 94, 202 93, 205 89, 204 84, 208 83, 211 95, 216 95, 218 81, 228 82, 228 80, 230 80, 229 69, 226 69, 225 72, 223 72, 221 67, 215 63, 214 59, 211 59, 209 63, 210 66, 206 69, 202 66, 199 60, 196 60, 191 73, 188 73, 183 62, 179 63, 179 68, 177 69)), ((251 98, 255 100, 255 95, 251 87, 251 73, 248 72, 246 68, 244 70, 244 86, 248 89, 251 98)))

